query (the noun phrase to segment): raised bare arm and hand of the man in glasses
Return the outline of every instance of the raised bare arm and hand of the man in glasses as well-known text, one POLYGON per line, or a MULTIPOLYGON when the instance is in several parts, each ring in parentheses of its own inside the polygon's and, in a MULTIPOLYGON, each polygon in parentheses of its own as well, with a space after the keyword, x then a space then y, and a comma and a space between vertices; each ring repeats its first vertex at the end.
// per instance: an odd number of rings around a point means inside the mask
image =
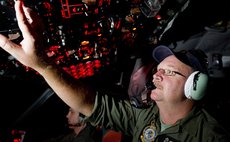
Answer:
POLYGON ((0 46, 25 66, 39 72, 67 105, 89 116, 93 110, 95 92, 49 61, 44 50, 40 17, 24 7, 22 1, 15 1, 15 11, 23 40, 15 44, 0 35, 0 46))

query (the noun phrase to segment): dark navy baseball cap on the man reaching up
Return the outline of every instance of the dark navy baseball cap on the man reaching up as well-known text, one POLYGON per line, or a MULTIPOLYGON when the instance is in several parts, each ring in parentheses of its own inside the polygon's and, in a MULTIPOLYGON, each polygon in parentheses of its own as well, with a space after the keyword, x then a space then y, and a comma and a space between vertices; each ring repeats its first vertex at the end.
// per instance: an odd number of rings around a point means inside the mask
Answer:
POLYGON ((159 45, 152 52, 153 58, 159 63, 170 55, 175 55, 181 62, 192 67, 194 71, 207 73, 207 56, 202 50, 181 50, 174 52, 167 46, 159 45))

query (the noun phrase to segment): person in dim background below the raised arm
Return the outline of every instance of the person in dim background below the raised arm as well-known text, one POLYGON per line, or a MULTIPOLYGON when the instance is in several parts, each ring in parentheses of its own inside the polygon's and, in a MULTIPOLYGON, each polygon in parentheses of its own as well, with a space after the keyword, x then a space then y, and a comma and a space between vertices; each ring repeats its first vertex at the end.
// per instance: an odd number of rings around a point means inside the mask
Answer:
POLYGON ((73 131, 43 142, 101 142, 102 133, 90 123, 84 122, 83 117, 79 112, 69 108, 69 112, 66 115, 67 125, 73 131))

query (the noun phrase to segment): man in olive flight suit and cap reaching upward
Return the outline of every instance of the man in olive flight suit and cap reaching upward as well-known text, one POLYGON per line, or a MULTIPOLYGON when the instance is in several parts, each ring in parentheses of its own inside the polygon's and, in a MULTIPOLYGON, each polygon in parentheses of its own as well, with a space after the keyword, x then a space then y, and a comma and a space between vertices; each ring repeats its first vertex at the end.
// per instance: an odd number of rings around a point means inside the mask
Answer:
POLYGON ((1 35, 0 46, 39 72, 66 104, 86 116, 85 121, 133 136, 133 142, 230 141, 229 133, 196 105, 195 100, 202 97, 207 82, 203 62, 195 54, 174 54, 165 46, 156 48, 153 57, 159 65, 153 75, 156 89, 150 96, 154 103, 139 109, 129 101, 94 91, 57 67, 42 50, 41 35, 36 32, 39 17, 23 7, 22 1, 15 2, 15 10, 24 39, 17 45, 1 35), (200 82, 200 75, 204 81, 200 82))

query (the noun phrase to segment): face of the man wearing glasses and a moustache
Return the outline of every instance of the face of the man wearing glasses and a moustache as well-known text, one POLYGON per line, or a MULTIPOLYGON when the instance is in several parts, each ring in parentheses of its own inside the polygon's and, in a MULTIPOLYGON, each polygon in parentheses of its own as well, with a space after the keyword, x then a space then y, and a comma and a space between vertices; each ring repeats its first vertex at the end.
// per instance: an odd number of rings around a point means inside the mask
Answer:
POLYGON ((153 75, 156 89, 151 92, 151 99, 156 103, 178 103, 185 100, 184 84, 192 68, 178 60, 174 55, 165 58, 153 75))

